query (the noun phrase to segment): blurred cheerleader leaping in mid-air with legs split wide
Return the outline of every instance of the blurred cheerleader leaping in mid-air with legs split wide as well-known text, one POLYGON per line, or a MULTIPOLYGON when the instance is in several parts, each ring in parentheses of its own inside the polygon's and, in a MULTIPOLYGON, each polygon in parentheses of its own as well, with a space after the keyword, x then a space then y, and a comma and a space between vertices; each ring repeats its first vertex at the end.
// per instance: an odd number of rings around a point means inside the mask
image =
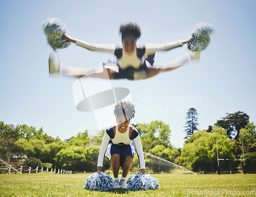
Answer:
MULTIPOLYGON (((70 43, 73 42, 77 46, 86 48, 92 51, 101 51, 112 53, 116 56, 117 61, 104 63, 104 69, 84 69, 78 67, 66 67, 58 63, 54 56, 49 57, 50 73, 60 73, 67 76, 75 77, 97 77, 103 79, 129 79, 140 80, 153 77, 159 73, 172 71, 179 68, 181 65, 193 59, 200 58, 200 51, 194 53, 190 51, 187 56, 170 61, 163 64, 158 64, 153 68, 154 56, 157 51, 168 51, 177 47, 182 47, 186 43, 193 41, 193 37, 187 40, 179 40, 174 42, 151 44, 145 43, 143 47, 137 46, 137 39, 141 32, 137 24, 128 23, 120 26, 120 34, 122 46, 116 47, 115 44, 95 44, 74 39, 63 33, 61 39, 70 43)), ((208 43, 207 43, 208 45, 208 43)))

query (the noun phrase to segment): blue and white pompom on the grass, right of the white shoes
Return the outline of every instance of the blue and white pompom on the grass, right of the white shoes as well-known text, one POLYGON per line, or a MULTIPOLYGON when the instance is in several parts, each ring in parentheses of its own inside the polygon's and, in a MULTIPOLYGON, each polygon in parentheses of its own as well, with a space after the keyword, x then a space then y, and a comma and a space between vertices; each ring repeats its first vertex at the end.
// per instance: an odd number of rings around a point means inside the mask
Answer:
POLYGON ((137 173, 127 180, 127 189, 133 191, 159 189, 159 184, 155 177, 149 174, 137 173))

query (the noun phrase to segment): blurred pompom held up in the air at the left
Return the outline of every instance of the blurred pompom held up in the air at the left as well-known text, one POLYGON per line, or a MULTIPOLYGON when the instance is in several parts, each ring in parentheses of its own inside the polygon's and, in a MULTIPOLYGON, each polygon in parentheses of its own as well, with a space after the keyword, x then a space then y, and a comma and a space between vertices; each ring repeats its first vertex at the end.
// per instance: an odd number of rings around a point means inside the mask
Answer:
POLYGON ((64 49, 69 47, 70 41, 62 38, 62 36, 67 33, 67 28, 65 25, 61 24, 59 19, 48 18, 44 22, 42 28, 46 34, 49 45, 54 51, 56 51, 56 49, 64 49))

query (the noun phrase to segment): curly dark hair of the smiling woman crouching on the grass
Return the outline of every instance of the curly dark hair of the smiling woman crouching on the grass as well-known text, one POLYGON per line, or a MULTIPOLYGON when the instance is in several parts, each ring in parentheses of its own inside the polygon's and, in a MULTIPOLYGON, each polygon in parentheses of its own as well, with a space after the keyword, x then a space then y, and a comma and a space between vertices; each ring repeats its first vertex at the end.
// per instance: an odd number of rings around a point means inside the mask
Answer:
POLYGON ((126 120, 134 118, 135 116, 134 105, 129 101, 118 102, 115 105, 114 115, 115 117, 124 115, 126 120))

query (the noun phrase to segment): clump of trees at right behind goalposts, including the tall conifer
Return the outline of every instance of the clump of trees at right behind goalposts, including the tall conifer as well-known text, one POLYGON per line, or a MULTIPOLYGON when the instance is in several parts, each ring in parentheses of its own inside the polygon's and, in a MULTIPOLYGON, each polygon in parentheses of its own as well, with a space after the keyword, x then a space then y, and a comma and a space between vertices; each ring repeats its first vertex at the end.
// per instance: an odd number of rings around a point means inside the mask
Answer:
POLYGON ((185 123, 186 141, 177 163, 195 171, 217 170, 217 143, 222 170, 242 168, 246 159, 248 171, 256 171, 256 129, 244 112, 227 113, 215 125, 198 129, 198 112, 190 108, 185 123), (243 151, 244 149, 244 151, 243 151))

